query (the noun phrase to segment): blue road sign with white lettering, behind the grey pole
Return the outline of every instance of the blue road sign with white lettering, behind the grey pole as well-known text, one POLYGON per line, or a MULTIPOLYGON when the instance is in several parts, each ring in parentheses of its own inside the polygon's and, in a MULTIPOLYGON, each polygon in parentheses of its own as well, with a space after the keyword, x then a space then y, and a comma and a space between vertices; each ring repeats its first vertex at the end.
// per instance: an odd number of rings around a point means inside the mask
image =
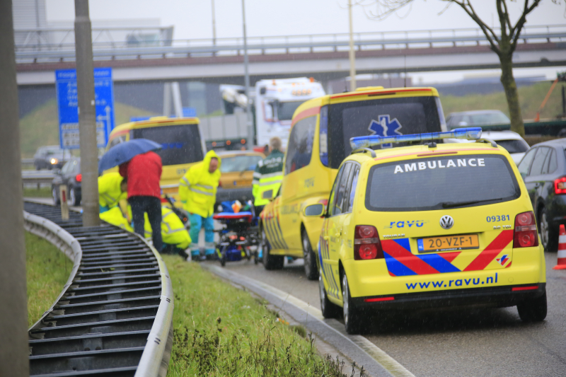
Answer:
MULTIPOLYGON (((79 148, 79 98, 76 92, 76 70, 55 71, 57 108, 59 110, 59 145, 64 149, 79 148)), ((104 148, 114 129, 114 86, 112 68, 94 69, 96 106, 96 144, 104 148)))

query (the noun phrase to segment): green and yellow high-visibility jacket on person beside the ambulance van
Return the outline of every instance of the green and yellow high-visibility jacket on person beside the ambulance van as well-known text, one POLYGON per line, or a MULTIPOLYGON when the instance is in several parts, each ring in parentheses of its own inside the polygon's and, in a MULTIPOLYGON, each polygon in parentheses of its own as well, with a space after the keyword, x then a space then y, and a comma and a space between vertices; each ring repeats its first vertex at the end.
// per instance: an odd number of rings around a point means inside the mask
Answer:
POLYGON ((270 202, 269 199, 263 199, 263 193, 268 190, 273 190, 272 197, 277 195, 283 180, 283 158, 282 152, 272 151, 269 156, 255 166, 252 180, 254 205, 263 206, 270 202))

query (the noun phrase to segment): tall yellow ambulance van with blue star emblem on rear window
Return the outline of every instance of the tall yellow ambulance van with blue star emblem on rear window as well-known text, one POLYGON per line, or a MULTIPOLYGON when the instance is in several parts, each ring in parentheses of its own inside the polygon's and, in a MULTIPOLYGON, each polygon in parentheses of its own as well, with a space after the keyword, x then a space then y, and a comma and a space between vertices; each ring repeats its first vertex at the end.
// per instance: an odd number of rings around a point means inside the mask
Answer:
POLYGON ((340 163, 352 151, 351 137, 440 131, 446 131, 446 122, 434 88, 359 88, 300 105, 291 122, 279 195, 272 193, 275 199, 260 216, 265 268, 282 268, 285 255, 304 257, 306 276, 317 279, 313 250, 322 219, 304 216, 303 209, 328 200, 340 163))

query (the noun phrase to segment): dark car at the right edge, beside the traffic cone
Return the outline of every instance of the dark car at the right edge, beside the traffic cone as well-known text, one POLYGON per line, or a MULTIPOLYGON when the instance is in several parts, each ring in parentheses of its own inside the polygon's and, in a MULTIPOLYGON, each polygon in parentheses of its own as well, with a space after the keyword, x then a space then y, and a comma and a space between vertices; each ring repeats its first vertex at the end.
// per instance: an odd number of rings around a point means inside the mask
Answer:
POLYGON ((546 251, 558 246, 560 224, 566 224, 566 139, 533 145, 518 165, 529 191, 546 251))

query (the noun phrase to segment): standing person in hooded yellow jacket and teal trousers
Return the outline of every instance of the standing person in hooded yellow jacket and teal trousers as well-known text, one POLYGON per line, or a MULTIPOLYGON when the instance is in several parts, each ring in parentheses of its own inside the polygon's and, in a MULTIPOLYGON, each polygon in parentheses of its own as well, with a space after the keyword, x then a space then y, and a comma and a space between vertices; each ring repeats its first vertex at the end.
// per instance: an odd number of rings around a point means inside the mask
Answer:
POLYGON ((198 240, 204 227, 205 255, 214 255, 214 203, 216 188, 220 181, 220 158, 214 151, 208 151, 204 160, 190 167, 181 178, 179 197, 183 208, 189 212, 190 252, 193 259, 200 257, 198 240))

